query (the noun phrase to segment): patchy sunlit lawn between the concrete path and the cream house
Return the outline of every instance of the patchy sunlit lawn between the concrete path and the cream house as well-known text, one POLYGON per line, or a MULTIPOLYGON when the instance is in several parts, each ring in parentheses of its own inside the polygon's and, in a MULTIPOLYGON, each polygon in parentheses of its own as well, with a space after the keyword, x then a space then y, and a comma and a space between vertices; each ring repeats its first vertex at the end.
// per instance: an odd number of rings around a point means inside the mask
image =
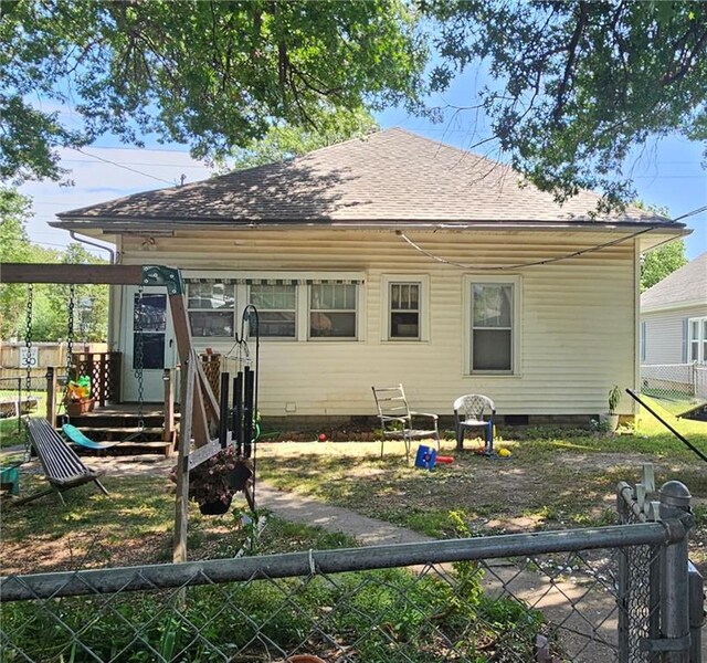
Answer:
MULTIPOLYGON (((697 448, 707 451, 707 424, 672 419, 697 448)), ((506 432, 506 435, 508 432, 506 432)), ((472 449, 476 441, 466 444, 472 449)), ((669 478, 686 483, 697 498, 707 497, 705 464, 657 421, 644 418, 637 431, 599 435, 583 430, 544 427, 500 438, 507 461, 458 452, 446 443, 452 465, 433 472, 404 462, 398 452, 380 460, 372 446, 356 453, 274 453, 260 461, 258 474, 276 486, 314 495, 432 537, 454 536, 450 511, 464 514, 475 535, 500 532, 600 526, 613 522, 619 481, 640 480, 644 462, 656 466, 659 486, 669 478)), ((414 450, 413 450, 414 451, 414 450)))

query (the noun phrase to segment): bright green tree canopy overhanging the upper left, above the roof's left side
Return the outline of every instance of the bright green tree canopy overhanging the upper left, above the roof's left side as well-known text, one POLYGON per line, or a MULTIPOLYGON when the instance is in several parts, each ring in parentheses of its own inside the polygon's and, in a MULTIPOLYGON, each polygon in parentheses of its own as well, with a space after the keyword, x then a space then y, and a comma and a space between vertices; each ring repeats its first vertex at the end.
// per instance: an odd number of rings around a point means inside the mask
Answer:
POLYGON ((283 120, 422 92, 426 50, 403 0, 4 0, 0 12, 4 180, 57 179, 57 146, 104 134, 218 157, 283 120))

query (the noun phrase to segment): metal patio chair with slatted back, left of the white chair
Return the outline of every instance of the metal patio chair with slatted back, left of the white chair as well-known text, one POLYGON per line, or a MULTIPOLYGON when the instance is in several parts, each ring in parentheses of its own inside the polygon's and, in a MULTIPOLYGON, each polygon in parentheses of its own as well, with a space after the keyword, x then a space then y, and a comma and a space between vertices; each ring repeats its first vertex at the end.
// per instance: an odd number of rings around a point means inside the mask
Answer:
POLYGON ((400 439, 405 442, 405 457, 410 459, 410 445, 413 440, 432 438, 440 450, 439 417, 430 412, 414 412, 408 406, 402 385, 397 387, 371 387, 382 436, 380 440, 380 457, 383 457, 383 444, 387 439, 400 439), (421 428, 416 424, 423 423, 421 428))

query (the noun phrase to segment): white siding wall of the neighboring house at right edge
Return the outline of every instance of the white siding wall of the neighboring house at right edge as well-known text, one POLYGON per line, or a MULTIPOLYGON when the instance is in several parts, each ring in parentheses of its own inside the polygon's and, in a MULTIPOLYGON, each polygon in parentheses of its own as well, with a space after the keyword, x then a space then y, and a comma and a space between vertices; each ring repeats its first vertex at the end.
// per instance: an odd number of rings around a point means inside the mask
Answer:
POLYGON ((641 314, 645 323, 645 358, 641 364, 684 364, 684 320, 707 316, 707 305, 641 314))

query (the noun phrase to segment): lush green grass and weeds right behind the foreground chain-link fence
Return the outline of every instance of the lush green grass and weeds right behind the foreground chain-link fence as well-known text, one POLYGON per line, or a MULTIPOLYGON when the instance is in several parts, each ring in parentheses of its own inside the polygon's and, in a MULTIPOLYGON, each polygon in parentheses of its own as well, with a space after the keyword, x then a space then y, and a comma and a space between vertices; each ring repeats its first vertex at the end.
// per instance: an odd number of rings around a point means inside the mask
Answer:
MULTIPOLYGON (((318 539, 307 526, 296 534, 318 539)), ((449 656, 481 663, 498 660, 502 652, 530 660, 542 615, 511 599, 485 597, 475 565, 456 565, 452 576, 455 582, 389 569, 253 579, 188 588, 179 609, 163 591, 3 604, 3 630, 11 634, 7 660, 13 660, 10 644, 38 661, 72 654, 83 660, 83 648, 99 660, 143 661, 148 645, 167 661, 191 663, 222 659, 225 652, 229 660, 272 660, 277 649, 308 650, 329 660, 338 648, 367 663, 449 656)))

